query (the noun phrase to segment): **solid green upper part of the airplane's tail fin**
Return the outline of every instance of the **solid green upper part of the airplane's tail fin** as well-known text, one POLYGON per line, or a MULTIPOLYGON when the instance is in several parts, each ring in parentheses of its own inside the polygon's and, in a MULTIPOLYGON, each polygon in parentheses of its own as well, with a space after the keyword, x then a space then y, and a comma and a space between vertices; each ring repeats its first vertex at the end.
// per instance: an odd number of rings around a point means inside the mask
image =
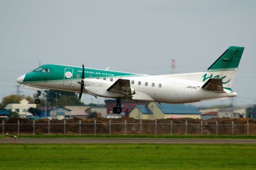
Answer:
POLYGON ((230 46, 207 70, 238 68, 244 47, 230 46))

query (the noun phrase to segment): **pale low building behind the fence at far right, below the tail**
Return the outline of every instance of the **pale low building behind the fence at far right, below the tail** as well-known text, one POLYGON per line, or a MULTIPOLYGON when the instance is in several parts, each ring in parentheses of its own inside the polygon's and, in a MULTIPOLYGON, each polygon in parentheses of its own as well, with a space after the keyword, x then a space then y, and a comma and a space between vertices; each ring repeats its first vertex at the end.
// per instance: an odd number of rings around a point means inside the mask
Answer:
POLYGON ((218 111, 218 118, 242 118, 246 117, 246 108, 227 107, 218 111))

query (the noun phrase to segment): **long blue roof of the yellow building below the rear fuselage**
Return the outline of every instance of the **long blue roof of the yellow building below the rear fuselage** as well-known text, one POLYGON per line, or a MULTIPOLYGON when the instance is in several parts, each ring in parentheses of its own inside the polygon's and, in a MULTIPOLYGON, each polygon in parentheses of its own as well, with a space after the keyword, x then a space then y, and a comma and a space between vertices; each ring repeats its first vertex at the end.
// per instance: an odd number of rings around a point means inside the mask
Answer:
POLYGON ((201 112, 192 105, 185 104, 167 104, 156 103, 157 106, 162 110, 164 114, 201 114, 201 112))

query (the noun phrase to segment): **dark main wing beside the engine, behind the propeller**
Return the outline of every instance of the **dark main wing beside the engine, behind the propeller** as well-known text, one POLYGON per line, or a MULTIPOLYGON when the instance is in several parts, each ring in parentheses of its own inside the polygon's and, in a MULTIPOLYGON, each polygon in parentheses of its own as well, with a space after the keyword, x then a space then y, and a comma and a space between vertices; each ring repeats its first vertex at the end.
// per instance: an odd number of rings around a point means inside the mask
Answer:
POLYGON ((131 98, 132 94, 134 94, 134 92, 132 92, 130 80, 125 80, 121 78, 114 82, 114 84, 112 84, 112 86, 110 86, 110 88, 108 88, 107 91, 112 93, 122 93, 125 95, 129 95, 131 98))

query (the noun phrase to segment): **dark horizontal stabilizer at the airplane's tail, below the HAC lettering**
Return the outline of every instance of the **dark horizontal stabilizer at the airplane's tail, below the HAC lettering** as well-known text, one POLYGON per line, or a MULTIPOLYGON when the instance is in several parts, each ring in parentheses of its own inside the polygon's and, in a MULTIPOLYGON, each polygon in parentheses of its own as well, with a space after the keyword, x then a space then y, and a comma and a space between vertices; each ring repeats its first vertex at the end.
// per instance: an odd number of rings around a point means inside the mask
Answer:
POLYGON ((210 78, 203 86, 202 88, 204 90, 211 90, 216 93, 222 93, 223 90, 223 84, 221 78, 210 78))

